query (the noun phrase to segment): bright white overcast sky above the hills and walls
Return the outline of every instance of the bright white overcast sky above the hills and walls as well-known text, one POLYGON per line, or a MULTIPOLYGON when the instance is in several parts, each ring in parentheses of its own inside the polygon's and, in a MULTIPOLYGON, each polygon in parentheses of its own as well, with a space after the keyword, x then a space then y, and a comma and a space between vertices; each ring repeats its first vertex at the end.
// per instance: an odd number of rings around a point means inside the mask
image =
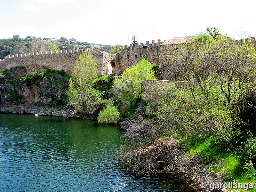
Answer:
POLYGON ((206 25, 236 39, 256 34, 255 0, 0 0, 0 39, 13 35, 131 44, 190 36, 206 25))

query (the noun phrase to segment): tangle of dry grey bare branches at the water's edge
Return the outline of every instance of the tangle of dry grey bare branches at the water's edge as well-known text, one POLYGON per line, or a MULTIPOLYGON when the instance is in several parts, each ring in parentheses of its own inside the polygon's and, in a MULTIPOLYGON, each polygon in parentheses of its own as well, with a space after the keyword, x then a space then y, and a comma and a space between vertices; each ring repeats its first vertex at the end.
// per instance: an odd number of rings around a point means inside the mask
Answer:
POLYGON ((143 122, 142 116, 127 120, 128 128, 122 136, 125 144, 118 154, 127 171, 137 174, 158 174, 182 170, 186 151, 176 140, 161 137, 154 122, 143 122))

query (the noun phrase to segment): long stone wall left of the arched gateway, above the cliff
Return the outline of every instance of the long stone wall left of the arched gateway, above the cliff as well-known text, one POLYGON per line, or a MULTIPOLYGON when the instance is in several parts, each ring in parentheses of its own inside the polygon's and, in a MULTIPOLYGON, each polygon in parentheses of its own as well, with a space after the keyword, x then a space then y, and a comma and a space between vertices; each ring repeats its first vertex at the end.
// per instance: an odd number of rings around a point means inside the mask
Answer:
MULTIPOLYGON (((76 59, 80 52, 85 50, 66 50, 57 53, 53 52, 36 52, 27 54, 7 55, 4 60, 0 61, 0 71, 15 66, 23 66, 27 68, 28 73, 45 70, 46 68, 54 70, 65 70, 68 75, 73 71, 76 59)), ((92 58, 97 63, 97 74, 103 76, 108 73, 110 61, 116 63, 116 53, 101 52, 98 48, 88 48, 86 51, 91 52, 92 58)), ((113 65, 113 64, 112 64, 113 65)))

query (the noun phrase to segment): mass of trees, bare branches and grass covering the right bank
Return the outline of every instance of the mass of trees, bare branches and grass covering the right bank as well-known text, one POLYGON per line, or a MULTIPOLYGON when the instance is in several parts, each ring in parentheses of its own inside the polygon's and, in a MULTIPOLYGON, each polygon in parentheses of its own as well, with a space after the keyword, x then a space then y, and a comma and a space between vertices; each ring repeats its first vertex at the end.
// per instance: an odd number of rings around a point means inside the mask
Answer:
POLYGON ((128 123, 119 151, 127 169, 184 171, 184 162, 201 156, 208 168, 195 180, 213 181, 205 175, 216 172, 226 182, 255 182, 255 55, 250 39, 206 33, 189 37, 178 51, 176 45, 163 47, 161 75, 179 82, 144 84, 143 119, 128 123), (166 145, 172 139, 175 148, 166 145), (181 149, 187 152, 176 153, 181 149))

